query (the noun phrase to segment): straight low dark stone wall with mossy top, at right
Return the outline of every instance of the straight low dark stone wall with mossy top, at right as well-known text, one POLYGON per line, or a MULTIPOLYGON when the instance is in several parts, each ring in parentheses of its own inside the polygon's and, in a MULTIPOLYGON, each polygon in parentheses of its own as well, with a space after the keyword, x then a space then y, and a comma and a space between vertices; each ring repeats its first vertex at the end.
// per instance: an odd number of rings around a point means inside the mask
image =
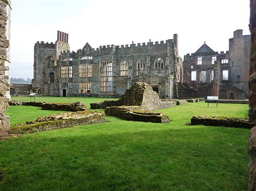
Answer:
POLYGON ((254 125, 249 119, 221 116, 193 116, 191 125, 229 126, 233 128, 251 129, 254 125))

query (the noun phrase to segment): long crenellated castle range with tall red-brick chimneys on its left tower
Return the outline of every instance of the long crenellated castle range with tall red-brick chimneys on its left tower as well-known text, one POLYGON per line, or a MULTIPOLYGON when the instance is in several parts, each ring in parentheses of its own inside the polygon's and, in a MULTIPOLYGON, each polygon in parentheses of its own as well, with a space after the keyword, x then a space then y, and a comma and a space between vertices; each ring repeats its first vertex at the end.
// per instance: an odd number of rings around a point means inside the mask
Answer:
POLYGON ((57 41, 35 44, 32 87, 53 96, 120 96, 134 82, 146 82, 160 97, 177 96, 182 81, 178 36, 146 44, 107 45, 88 43, 70 52, 68 34, 57 32, 57 41))

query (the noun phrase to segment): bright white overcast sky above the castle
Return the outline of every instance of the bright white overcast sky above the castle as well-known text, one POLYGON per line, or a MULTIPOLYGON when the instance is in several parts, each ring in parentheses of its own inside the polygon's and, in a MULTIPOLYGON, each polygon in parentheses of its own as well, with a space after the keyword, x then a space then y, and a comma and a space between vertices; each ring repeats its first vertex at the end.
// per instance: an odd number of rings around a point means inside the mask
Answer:
POLYGON ((233 31, 248 30, 249 0, 12 0, 11 77, 33 77, 33 46, 69 33, 71 51, 172 39, 179 55, 194 53, 206 41, 227 51, 233 31))

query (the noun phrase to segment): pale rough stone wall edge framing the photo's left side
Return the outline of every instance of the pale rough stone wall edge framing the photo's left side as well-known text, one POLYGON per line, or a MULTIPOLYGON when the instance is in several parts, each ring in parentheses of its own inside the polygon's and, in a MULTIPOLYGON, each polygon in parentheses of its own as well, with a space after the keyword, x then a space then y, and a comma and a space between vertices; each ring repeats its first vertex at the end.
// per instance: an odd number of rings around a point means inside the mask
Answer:
POLYGON ((9 40, 6 32, 8 29, 8 17, 10 17, 9 5, 0 1, 0 137, 8 135, 10 130, 9 117, 4 115, 8 107, 9 98, 6 97, 9 91, 9 40))

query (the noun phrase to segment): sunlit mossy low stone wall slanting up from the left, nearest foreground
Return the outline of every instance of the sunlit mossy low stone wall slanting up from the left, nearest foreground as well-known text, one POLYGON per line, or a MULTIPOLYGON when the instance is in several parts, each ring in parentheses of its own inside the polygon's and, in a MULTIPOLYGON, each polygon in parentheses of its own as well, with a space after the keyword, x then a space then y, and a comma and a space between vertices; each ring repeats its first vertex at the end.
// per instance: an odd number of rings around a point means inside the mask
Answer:
POLYGON ((56 114, 45 117, 38 117, 36 121, 29 121, 26 124, 18 124, 11 127, 10 134, 24 132, 51 131, 60 128, 68 128, 76 125, 104 123, 106 122, 101 112, 77 111, 66 114, 56 114))

